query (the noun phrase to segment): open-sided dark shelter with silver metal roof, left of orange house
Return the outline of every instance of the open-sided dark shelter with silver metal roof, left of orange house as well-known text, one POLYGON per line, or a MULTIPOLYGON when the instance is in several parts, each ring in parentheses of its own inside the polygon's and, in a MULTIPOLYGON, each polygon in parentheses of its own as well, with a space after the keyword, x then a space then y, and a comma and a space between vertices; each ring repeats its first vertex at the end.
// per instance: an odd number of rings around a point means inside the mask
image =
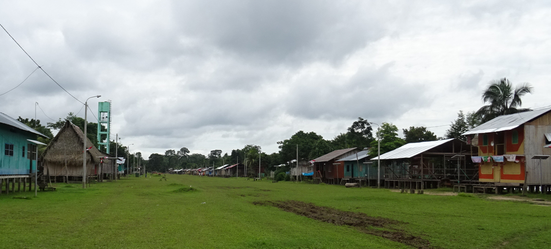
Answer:
MULTIPOLYGON (((386 188, 420 189, 478 183, 478 149, 460 139, 409 143, 381 155, 386 188), (383 168, 384 166, 384 168, 383 168)), ((371 160, 376 160, 377 157, 371 160)))

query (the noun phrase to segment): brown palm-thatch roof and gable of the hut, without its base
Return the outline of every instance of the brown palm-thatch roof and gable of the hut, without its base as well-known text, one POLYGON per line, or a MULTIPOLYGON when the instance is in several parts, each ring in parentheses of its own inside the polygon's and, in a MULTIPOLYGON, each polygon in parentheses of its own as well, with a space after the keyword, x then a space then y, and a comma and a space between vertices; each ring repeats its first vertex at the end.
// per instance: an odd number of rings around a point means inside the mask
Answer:
POLYGON ((86 161, 88 163, 99 164, 102 153, 95 148, 93 143, 84 136, 84 133, 78 126, 66 121, 60 132, 52 139, 42 159, 45 163, 63 164, 67 159, 67 163, 71 165, 82 165, 82 150, 86 139, 86 147, 92 147, 87 150, 86 161))

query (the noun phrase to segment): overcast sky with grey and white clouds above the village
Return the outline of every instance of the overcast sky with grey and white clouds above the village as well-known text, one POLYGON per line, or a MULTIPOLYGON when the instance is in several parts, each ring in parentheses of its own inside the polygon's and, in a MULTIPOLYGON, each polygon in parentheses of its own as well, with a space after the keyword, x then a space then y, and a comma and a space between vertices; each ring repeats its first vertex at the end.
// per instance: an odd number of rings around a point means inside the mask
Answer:
MULTIPOLYGON (((549 106, 549 16, 536 1, 0 2, 0 24, 77 99, 102 95, 95 115, 111 100, 112 133, 145 156, 272 153, 299 130, 331 139, 358 117, 441 126, 503 77, 534 86, 524 107, 549 106)), ((0 31, 2 94, 36 65, 0 31)), ((0 111, 31 118, 35 102, 42 122, 84 116, 41 71, 0 111)))

